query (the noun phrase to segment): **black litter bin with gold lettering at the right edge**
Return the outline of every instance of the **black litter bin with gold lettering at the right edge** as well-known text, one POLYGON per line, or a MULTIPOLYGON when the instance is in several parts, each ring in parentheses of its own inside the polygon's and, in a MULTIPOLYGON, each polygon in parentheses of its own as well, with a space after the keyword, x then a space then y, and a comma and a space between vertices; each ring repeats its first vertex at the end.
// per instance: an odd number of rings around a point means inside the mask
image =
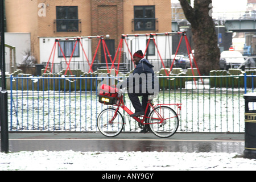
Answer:
POLYGON ((245 98, 245 150, 244 158, 256 159, 256 93, 247 93, 245 98))

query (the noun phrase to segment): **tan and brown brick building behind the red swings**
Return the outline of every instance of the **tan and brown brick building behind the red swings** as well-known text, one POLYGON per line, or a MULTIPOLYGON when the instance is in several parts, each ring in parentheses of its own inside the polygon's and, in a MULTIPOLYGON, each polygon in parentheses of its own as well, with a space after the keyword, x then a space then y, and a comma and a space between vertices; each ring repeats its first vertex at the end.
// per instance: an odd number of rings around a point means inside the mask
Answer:
MULTIPOLYGON (((171 32, 170 0, 5 0, 5 9, 7 32, 29 32, 38 63, 47 61, 55 38, 104 35, 115 52, 122 34, 171 32)), ((61 44, 67 57, 73 44, 61 44)), ((97 40, 91 44, 93 53, 97 40)))

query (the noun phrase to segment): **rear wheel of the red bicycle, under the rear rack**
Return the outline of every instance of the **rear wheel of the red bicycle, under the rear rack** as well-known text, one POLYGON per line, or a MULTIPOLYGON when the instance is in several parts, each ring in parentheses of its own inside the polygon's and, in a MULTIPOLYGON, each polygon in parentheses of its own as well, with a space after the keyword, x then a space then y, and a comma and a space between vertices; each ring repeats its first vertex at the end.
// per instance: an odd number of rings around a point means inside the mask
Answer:
POLYGON ((152 110, 147 119, 151 131, 158 137, 167 138, 174 135, 179 127, 179 117, 176 112, 168 106, 158 106, 152 110), (160 119, 163 122, 160 122, 160 119))

